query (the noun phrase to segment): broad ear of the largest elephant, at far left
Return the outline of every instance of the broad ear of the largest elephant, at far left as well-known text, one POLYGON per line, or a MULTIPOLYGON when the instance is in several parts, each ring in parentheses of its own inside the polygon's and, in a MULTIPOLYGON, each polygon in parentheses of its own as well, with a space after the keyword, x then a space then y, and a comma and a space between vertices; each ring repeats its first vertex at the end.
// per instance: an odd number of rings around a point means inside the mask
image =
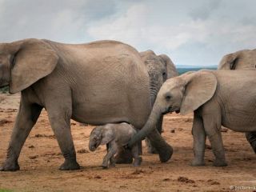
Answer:
POLYGON ((50 74, 58 63, 58 55, 46 42, 26 39, 10 43, 14 48, 10 93, 15 94, 50 74))

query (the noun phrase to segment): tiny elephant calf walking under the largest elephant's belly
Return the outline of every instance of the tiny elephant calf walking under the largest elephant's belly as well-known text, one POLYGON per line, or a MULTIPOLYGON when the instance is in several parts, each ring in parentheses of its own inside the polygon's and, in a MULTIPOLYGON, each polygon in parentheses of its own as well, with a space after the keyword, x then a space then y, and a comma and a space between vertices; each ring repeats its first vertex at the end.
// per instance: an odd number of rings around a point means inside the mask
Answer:
MULTIPOLYGON (((118 150, 122 150, 122 147, 129 142, 134 134, 136 134, 134 126, 126 122, 96 126, 90 133, 89 149, 94 151, 99 145, 106 145, 107 154, 102 162, 102 167, 106 169, 109 167, 109 162, 110 166, 114 166, 114 154, 118 150)), ((132 155, 134 157, 134 166, 139 166, 142 158, 139 157, 138 145, 132 147, 132 155)))

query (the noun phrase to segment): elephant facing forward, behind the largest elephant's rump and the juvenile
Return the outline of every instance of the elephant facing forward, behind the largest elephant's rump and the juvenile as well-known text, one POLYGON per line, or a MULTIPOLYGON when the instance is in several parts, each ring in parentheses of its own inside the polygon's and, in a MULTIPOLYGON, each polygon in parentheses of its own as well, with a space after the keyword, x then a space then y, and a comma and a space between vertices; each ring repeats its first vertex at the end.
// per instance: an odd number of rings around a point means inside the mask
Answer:
MULTIPOLYGON (((142 57, 142 61, 145 63, 147 72, 150 76, 150 101, 152 107, 154 106, 155 98, 157 97, 160 87, 168 78, 174 78, 178 76, 178 71, 174 66, 174 63, 166 54, 157 55, 153 50, 146 50, 139 53, 142 57)), ((159 134, 162 133, 162 118, 159 118, 156 129, 159 134)), ((148 146, 148 152, 151 154, 158 153, 157 150, 152 147, 150 141, 146 139, 148 146)))

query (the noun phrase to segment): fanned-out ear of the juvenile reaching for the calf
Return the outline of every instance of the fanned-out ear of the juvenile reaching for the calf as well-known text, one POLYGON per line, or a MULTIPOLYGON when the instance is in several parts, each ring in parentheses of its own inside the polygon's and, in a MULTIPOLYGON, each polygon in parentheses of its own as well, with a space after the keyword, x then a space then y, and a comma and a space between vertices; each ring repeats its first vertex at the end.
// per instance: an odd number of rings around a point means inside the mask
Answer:
POLYGON ((182 98, 181 114, 188 114, 197 110, 214 96, 217 87, 217 78, 214 74, 199 71, 184 74, 185 93, 182 98))

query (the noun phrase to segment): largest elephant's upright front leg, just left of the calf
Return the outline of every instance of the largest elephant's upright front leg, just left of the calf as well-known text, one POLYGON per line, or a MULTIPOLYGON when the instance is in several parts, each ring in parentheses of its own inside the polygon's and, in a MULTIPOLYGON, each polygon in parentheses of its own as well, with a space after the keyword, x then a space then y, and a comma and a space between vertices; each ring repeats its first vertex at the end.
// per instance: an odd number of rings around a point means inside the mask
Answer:
MULTIPOLYGON (((54 130, 54 135, 57 138, 58 146, 62 150, 65 162, 60 166, 60 170, 78 170, 80 166, 76 160, 74 143, 70 130, 71 105, 64 106, 51 105, 47 108, 50 119, 50 125, 54 130)), ((67 104, 67 103, 66 103, 67 104)))

